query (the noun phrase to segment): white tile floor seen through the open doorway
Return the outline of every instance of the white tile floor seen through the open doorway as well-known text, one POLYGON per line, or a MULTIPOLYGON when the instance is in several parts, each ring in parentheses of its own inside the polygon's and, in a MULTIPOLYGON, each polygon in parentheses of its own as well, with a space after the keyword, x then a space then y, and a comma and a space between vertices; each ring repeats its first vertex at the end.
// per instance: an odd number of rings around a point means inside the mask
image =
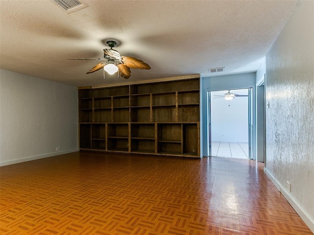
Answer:
POLYGON ((248 143, 211 142, 211 156, 249 159, 248 143))

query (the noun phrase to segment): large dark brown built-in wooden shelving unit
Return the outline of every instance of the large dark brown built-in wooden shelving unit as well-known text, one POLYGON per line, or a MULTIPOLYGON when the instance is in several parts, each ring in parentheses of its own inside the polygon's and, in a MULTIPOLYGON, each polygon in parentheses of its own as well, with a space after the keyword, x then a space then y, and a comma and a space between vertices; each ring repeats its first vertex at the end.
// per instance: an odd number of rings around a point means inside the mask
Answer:
POLYGON ((199 75, 78 88, 80 150, 200 157, 199 75))

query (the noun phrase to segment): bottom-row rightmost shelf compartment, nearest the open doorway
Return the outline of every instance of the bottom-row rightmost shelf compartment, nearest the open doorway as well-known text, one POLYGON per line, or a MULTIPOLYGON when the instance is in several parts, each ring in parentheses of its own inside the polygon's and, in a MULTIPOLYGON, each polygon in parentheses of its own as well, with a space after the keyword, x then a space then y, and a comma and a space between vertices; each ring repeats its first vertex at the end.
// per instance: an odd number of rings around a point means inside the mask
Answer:
POLYGON ((183 124, 183 154, 198 155, 199 137, 198 124, 183 124), (197 138, 191 138, 191 136, 197 138))

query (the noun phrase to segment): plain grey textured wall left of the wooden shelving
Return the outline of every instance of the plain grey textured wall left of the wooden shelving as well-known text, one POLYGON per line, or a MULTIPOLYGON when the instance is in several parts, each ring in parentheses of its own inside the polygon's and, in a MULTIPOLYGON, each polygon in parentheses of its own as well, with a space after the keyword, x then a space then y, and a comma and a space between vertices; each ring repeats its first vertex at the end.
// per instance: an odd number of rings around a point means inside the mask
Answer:
POLYGON ((73 86, 0 70, 0 163, 77 150, 77 94, 73 86))

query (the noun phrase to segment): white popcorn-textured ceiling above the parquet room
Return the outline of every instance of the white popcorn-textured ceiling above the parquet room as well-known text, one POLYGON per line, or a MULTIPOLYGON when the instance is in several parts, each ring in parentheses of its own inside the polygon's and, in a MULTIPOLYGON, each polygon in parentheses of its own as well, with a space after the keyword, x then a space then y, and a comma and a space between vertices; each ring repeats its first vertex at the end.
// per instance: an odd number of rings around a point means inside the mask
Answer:
POLYGON ((52 0, 0 0, 0 68, 74 86, 126 81, 99 63, 106 39, 148 63, 129 81, 256 71, 298 0, 84 0, 66 13, 52 0), (225 67, 221 73, 208 69, 225 67))

